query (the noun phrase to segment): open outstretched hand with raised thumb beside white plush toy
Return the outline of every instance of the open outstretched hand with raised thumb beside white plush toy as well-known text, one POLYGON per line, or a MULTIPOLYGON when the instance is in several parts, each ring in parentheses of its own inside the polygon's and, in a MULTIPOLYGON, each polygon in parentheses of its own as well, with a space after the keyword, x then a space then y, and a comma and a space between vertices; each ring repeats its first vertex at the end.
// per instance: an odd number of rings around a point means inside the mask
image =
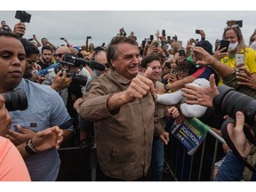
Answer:
POLYGON ((186 84, 185 88, 182 88, 182 96, 187 98, 186 103, 193 105, 202 105, 208 108, 212 108, 213 98, 219 94, 217 86, 215 84, 214 74, 210 76, 210 87, 198 87, 190 84, 186 84))

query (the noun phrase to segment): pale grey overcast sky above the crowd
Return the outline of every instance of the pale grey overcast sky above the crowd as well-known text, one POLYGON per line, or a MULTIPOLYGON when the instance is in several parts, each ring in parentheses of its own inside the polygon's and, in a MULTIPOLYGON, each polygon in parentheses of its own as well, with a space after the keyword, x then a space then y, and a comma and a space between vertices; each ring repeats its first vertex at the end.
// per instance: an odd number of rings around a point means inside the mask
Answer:
MULTIPOLYGON (((42 2, 41 2, 42 3, 42 2)), ((47 37, 52 44, 65 44, 60 37, 66 37, 70 44, 84 45, 85 37, 92 36, 91 42, 108 44, 119 31, 125 29, 127 35, 134 31, 138 43, 156 29, 165 29, 167 36, 178 36, 186 46, 189 38, 200 38, 196 29, 204 29, 206 39, 212 45, 221 38, 228 20, 243 20, 242 32, 245 44, 256 28, 256 12, 253 11, 29 11, 31 20, 26 23, 26 38, 36 34, 38 39, 47 37)), ((0 20, 13 28, 19 20, 15 11, 0 11, 0 20)))

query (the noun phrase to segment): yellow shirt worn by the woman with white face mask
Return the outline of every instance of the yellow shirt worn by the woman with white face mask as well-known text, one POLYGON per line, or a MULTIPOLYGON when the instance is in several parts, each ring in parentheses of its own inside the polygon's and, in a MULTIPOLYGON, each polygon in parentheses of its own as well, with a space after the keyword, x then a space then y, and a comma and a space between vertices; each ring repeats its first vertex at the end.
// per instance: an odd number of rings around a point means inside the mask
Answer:
MULTIPOLYGON (((241 54, 244 54, 244 66, 247 70, 253 74, 256 73, 256 52, 252 48, 245 48, 245 52, 242 51, 241 54)), ((235 68, 236 59, 235 57, 230 57, 229 55, 220 60, 221 63, 224 63, 231 68, 235 68)), ((219 85, 223 84, 222 78, 220 78, 219 85)))

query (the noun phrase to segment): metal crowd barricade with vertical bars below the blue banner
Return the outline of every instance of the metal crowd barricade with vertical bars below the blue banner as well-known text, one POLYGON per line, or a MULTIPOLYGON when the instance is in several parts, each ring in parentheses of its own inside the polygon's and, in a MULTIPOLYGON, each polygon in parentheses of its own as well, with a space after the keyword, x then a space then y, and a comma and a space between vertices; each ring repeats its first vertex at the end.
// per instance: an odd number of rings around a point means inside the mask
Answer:
POLYGON ((211 129, 193 156, 175 137, 165 147, 165 165, 177 181, 211 181, 215 162, 225 156, 222 143, 225 143, 211 129))

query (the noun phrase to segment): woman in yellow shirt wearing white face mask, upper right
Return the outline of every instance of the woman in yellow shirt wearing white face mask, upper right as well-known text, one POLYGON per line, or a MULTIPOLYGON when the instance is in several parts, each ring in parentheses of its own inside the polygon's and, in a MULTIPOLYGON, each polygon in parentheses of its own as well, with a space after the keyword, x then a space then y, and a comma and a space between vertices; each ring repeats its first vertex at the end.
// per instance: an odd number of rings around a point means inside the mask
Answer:
MULTIPOLYGON (((241 70, 247 70, 249 74, 256 79, 256 52, 244 44, 244 37, 238 25, 225 28, 222 39, 228 40, 230 44, 228 46, 228 53, 220 59, 220 62, 231 68, 236 68, 237 71, 240 72, 241 70), (244 64, 236 65, 236 54, 244 55, 244 64)), ((246 73, 244 73, 244 75, 245 74, 246 73)), ((241 80, 244 85, 247 85, 248 78, 249 76, 244 76, 241 80)), ((219 84, 221 83, 219 82, 219 84)))

